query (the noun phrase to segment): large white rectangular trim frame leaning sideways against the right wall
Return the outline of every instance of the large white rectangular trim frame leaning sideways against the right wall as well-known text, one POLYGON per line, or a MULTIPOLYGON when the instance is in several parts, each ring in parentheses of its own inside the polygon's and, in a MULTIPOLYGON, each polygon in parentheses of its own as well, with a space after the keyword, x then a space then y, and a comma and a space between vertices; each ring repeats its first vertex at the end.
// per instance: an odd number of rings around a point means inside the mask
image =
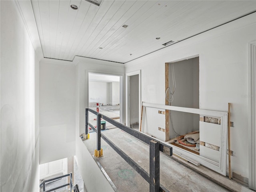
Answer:
MULTIPOLYGON (((227 159, 227 135, 228 135, 228 112, 219 112, 219 111, 211 111, 211 110, 202 110, 196 108, 184 108, 184 107, 177 107, 177 106, 168 106, 168 105, 161 105, 161 104, 151 104, 151 103, 143 103, 143 108, 151 107, 151 108, 160 108, 165 110, 175 110, 180 112, 188 112, 193 114, 200 114, 202 116, 210 116, 215 118, 220 118, 221 124, 220 126, 220 156, 218 158, 218 162, 205 158, 203 156, 191 153, 187 150, 182 148, 176 147, 174 145, 169 144, 173 148, 173 152, 180 156, 188 157, 192 160, 199 162, 200 164, 226 176, 226 159, 227 159)), ((143 110, 144 110, 143 109, 143 110)), ((145 111, 145 110, 144 110, 145 111)), ((142 121, 142 132, 144 131, 144 116, 143 113, 143 121, 142 121)), ((210 124, 210 123, 209 123, 210 124)))

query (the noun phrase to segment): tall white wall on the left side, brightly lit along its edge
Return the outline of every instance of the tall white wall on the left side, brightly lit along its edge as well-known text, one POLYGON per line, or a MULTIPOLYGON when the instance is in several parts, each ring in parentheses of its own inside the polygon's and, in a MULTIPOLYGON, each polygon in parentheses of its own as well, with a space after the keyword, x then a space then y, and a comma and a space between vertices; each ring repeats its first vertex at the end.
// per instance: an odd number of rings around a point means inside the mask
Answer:
POLYGON ((1 192, 39 191, 38 65, 14 1, 1 5, 1 192))

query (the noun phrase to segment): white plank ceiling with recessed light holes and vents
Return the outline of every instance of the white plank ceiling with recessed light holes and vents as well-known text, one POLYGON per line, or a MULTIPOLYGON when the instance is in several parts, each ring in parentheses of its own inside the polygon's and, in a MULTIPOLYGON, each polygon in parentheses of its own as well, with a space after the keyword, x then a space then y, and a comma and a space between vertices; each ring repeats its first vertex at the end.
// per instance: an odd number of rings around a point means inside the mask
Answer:
POLYGON ((45 58, 72 61, 83 56, 120 63, 256 11, 255 0, 102 0, 100 6, 85 0, 31 3, 45 58))

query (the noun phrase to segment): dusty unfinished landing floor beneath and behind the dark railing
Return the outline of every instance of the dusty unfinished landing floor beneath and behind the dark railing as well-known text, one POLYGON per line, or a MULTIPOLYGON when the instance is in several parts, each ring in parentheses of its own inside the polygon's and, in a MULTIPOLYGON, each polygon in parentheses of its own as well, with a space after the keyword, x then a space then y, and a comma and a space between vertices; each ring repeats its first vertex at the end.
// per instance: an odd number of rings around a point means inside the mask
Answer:
MULTIPOLYGON (((149 146, 118 128, 103 130, 116 146, 149 172, 149 146)), ((123 160, 104 140, 101 140, 103 157, 97 158, 120 192, 148 192, 149 184, 123 160)), ((85 140, 90 153, 96 149, 96 133, 85 140)), ((204 178, 170 157, 160 153, 160 183, 171 192, 226 192, 228 190, 204 178)))

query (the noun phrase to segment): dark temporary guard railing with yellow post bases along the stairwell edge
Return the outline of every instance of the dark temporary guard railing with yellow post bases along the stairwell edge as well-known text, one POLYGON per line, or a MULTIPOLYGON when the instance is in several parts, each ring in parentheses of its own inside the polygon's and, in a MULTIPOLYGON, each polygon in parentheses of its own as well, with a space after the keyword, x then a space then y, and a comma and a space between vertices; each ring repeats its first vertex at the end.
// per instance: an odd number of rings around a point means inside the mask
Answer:
POLYGON ((104 116, 90 108, 86 108, 85 110, 85 136, 84 138, 90 138, 88 134, 88 126, 90 126, 97 133, 97 148, 95 150, 95 156, 102 156, 103 151, 100 148, 100 138, 104 139, 106 143, 108 143, 144 180, 146 180, 150 184, 150 192, 169 192, 164 186, 160 184, 160 151, 168 156, 172 156, 172 147, 164 144, 158 140, 154 140, 154 138, 147 136, 141 132, 131 129, 119 122, 104 116), (92 112, 97 116, 97 127, 94 128, 92 124, 88 122, 88 112, 92 112), (130 158, 127 154, 125 154, 120 148, 118 148, 110 139, 108 139, 101 132, 101 118, 110 122, 112 125, 120 128, 124 132, 134 136, 135 138, 141 140, 142 142, 148 144, 150 146, 150 174, 146 172, 141 166, 139 166, 132 158, 130 158))

